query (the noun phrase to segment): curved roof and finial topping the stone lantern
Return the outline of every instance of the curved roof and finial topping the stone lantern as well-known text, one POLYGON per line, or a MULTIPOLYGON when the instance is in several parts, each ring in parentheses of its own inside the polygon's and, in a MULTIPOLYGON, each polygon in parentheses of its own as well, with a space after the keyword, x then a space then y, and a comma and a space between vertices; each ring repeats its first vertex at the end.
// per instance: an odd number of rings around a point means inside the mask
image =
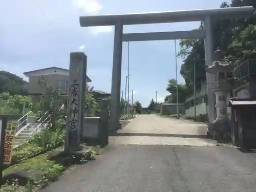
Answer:
POLYGON ((230 72, 233 70, 233 65, 224 60, 224 52, 219 48, 214 52, 214 60, 206 67, 205 71, 208 73, 230 72))

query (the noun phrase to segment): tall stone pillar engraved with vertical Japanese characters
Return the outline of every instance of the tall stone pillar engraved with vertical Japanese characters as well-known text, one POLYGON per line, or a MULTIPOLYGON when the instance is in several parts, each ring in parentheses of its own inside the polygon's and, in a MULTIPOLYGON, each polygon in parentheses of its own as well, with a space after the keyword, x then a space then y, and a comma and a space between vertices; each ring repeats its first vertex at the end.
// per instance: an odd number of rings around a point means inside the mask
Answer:
POLYGON ((79 150, 83 132, 86 93, 87 56, 82 52, 70 54, 69 92, 65 151, 79 150))

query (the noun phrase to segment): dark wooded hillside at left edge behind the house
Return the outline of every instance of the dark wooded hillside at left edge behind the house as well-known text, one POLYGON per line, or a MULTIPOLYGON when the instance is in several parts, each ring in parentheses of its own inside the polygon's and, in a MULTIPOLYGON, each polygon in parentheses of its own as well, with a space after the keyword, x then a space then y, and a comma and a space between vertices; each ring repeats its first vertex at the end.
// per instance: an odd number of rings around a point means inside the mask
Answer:
POLYGON ((23 78, 9 73, 0 71, 0 93, 9 92, 11 95, 27 95, 28 82, 23 78))

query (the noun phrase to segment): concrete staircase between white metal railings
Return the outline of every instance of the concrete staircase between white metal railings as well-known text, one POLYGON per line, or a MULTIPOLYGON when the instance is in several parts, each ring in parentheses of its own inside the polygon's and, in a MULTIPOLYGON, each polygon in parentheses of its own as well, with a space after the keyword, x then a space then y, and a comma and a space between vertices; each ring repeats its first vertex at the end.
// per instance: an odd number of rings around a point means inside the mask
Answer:
POLYGON ((14 139, 14 147, 25 143, 31 137, 31 133, 39 126, 40 123, 29 123, 22 132, 20 132, 14 139))

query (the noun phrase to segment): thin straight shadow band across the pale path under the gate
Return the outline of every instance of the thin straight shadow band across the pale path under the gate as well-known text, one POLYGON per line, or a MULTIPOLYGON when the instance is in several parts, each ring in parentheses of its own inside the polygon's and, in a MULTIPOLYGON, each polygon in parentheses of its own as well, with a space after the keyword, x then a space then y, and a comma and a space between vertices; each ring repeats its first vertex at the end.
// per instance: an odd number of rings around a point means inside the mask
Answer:
POLYGON ((206 135, 186 135, 186 134, 156 134, 156 133, 118 133, 110 132, 109 136, 147 136, 147 137, 181 137, 181 138, 198 138, 207 139, 206 135))

